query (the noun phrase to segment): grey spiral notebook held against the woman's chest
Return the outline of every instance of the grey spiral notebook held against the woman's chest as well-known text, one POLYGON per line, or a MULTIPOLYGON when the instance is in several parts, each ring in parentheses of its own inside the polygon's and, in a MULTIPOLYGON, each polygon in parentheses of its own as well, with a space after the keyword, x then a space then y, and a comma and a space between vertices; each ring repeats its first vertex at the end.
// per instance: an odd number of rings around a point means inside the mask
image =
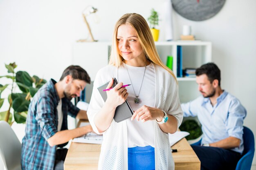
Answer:
MULTIPOLYGON (((113 79, 114 79, 114 83, 112 85, 112 88, 117 85, 116 78, 113 78, 113 79)), ((101 97, 103 98, 103 100, 105 102, 106 102, 108 96, 107 96, 107 92, 103 92, 103 90, 107 88, 109 82, 110 81, 108 81, 107 83, 98 87, 99 93, 101 94, 101 97)), ((125 100, 125 102, 123 104, 117 106, 116 111, 115 111, 114 120, 115 120, 115 122, 118 123, 118 122, 121 122, 123 120, 126 120, 126 119, 132 117, 132 115, 133 115, 132 108, 130 107, 130 104, 128 103, 128 101, 125 100)))

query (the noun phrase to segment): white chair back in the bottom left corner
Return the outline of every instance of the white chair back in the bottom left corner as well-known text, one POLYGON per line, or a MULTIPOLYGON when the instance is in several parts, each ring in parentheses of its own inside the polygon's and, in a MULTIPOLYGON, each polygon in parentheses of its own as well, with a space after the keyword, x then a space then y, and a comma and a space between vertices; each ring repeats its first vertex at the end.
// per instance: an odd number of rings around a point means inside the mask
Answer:
POLYGON ((20 141, 11 129, 11 126, 3 120, 0 121, 0 134, 0 156, 2 157, 4 167, 7 170, 21 170, 20 141))

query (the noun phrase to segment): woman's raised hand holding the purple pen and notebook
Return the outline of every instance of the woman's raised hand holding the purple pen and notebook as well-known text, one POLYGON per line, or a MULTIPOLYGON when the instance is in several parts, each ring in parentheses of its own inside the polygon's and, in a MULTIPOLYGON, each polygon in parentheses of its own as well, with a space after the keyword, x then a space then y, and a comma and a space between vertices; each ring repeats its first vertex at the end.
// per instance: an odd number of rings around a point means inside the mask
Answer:
MULTIPOLYGON (((114 83, 113 78, 108 83, 107 89, 111 88, 114 83)), ((106 104, 115 109, 117 106, 123 104, 128 97, 127 89, 122 87, 123 83, 118 83, 113 89, 107 91, 106 104)))

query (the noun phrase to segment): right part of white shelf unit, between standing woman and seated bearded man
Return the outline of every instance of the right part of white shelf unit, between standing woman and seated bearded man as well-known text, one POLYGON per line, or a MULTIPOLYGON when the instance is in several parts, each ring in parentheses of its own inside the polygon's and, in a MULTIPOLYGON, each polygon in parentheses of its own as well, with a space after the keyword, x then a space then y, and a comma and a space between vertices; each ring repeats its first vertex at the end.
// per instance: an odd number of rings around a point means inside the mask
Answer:
MULTIPOLYGON (((211 42, 170 41, 156 42, 160 59, 166 64, 167 56, 173 56, 173 73, 177 76, 177 46, 182 46, 182 69, 198 68, 212 61, 211 42)), ((200 96, 195 78, 178 77, 180 102, 189 102, 200 96)))

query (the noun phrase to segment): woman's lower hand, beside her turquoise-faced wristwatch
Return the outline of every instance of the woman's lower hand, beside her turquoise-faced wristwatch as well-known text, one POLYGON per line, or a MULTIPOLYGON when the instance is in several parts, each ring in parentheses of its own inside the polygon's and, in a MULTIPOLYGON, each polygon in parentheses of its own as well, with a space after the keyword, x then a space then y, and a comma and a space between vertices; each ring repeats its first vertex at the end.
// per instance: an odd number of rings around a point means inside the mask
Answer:
POLYGON ((157 121, 161 122, 163 117, 164 112, 162 110, 144 105, 133 113, 131 120, 136 118, 137 121, 141 120, 141 122, 146 122, 148 120, 157 119, 157 121))

